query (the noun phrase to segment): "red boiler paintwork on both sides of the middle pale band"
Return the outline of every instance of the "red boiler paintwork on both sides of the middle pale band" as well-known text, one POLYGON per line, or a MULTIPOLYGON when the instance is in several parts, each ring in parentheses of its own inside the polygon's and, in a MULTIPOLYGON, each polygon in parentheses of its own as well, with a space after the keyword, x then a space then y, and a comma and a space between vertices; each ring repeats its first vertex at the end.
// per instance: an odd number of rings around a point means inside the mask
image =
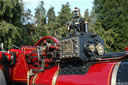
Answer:
MULTIPOLYGON (((110 85, 115 64, 116 62, 94 64, 84 75, 59 75, 56 85, 110 85)), ((39 73, 34 84, 52 85, 56 71, 57 68, 52 67, 39 73)))

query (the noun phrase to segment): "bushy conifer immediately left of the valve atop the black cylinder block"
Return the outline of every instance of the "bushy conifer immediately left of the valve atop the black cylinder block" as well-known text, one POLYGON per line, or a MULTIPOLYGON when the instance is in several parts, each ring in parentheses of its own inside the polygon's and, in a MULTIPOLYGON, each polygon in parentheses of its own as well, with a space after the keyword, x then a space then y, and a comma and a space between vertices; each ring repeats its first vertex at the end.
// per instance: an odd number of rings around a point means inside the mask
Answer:
POLYGON ((57 17, 57 38, 61 38, 66 36, 67 33, 67 27, 66 27, 66 22, 71 21, 73 17, 73 14, 70 9, 69 3, 66 3, 65 5, 62 5, 61 11, 59 12, 59 15, 57 17))

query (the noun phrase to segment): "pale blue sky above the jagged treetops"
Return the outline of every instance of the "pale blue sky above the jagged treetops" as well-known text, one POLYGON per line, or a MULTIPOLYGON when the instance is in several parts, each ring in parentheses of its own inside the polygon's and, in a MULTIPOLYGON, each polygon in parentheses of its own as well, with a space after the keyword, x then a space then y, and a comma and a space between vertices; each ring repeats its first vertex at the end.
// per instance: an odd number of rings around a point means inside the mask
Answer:
MULTIPOLYGON (((40 1, 42 0, 23 0, 25 9, 31 9, 32 14, 35 13, 35 8, 39 5, 40 1)), ((46 11, 50 7, 54 7, 55 14, 58 15, 58 12, 61 10, 62 4, 66 4, 69 2, 71 10, 73 10, 75 7, 80 8, 81 15, 84 16, 84 12, 86 9, 89 9, 89 12, 91 12, 93 7, 93 1, 94 0, 43 0, 44 1, 44 7, 46 11)))

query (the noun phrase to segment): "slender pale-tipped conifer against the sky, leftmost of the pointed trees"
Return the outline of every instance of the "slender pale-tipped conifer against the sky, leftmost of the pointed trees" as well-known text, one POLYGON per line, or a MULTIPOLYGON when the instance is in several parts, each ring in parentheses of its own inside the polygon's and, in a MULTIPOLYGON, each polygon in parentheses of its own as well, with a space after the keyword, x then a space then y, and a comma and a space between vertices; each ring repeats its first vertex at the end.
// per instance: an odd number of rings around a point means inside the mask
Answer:
POLYGON ((41 1, 38 7, 35 9, 35 24, 34 24, 34 35, 33 37, 30 35, 31 41, 33 40, 36 43, 41 37, 46 36, 46 10, 44 8, 44 2, 41 1))

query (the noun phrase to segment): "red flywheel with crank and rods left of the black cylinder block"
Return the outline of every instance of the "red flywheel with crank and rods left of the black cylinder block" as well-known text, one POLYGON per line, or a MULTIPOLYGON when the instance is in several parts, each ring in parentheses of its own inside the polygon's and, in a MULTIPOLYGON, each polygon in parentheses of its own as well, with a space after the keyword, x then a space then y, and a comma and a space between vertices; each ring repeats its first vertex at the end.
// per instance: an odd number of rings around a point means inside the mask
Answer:
POLYGON ((32 63, 31 68, 34 68, 33 71, 44 71, 46 62, 49 63, 52 61, 52 55, 48 52, 53 52, 54 50, 59 49, 59 40, 53 37, 43 37, 41 38, 35 46, 37 50, 34 50, 32 53, 35 53, 35 56, 29 56, 28 61, 32 63))

